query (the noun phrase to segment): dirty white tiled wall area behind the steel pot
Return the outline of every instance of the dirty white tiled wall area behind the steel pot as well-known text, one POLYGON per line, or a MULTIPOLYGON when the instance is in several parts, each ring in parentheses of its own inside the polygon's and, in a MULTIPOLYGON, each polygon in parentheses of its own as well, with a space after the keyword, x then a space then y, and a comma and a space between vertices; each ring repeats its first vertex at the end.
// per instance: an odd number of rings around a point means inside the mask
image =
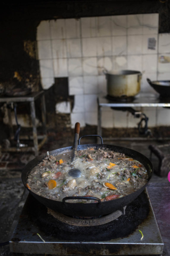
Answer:
MULTIPOLYGON (((69 77, 69 94, 75 95, 72 127, 77 121, 81 126, 97 124, 97 97, 107 93, 104 68, 145 70, 142 92, 155 93, 147 77, 170 79, 170 34, 158 37, 158 14, 41 21, 37 41, 43 88, 49 89, 54 77, 69 77), (154 50, 148 49, 149 38, 155 38, 154 50), (167 62, 160 62, 160 56, 167 62)), ((109 108, 103 111, 103 127, 136 127, 139 122, 126 112, 109 108)), ((149 126, 154 126, 156 109, 145 111, 150 118, 149 126)), ((160 113, 157 125, 164 124, 165 111, 160 113)))

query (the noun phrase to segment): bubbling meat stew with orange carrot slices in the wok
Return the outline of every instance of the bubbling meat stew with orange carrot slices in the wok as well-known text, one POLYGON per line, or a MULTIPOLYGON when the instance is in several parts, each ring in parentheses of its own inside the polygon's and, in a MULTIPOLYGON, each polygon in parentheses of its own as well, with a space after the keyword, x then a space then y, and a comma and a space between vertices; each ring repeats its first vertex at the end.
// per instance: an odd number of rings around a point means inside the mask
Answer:
MULTIPOLYGON (((71 151, 47 156, 29 173, 27 186, 34 193, 62 201, 68 196, 93 196, 109 201, 129 195, 147 183, 148 173, 140 162, 122 153, 106 148, 88 148, 77 151, 71 163, 71 151), (79 169, 81 176, 69 175, 79 169)), ((78 200, 70 200, 78 203, 78 200)), ((94 200, 79 200, 79 203, 94 200)))

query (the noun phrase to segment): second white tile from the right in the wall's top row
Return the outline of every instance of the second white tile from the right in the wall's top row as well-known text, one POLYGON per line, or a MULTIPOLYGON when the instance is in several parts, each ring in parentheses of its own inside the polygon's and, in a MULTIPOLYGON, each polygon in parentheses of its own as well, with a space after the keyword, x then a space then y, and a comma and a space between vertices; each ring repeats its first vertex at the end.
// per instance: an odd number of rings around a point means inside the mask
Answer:
POLYGON ((142 35, 142 14, 128 15, 128 35, 142 35))

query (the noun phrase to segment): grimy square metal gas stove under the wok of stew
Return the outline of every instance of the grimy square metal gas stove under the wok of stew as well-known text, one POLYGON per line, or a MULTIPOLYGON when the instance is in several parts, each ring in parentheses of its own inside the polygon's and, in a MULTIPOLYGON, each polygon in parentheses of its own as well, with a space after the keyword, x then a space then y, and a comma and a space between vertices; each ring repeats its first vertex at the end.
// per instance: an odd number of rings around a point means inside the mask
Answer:
POLYGON ((160 255, 163 246, 147 189, 96 219, 54 212, 29 194, 10 241, 11 252, 57 255, 160 255))

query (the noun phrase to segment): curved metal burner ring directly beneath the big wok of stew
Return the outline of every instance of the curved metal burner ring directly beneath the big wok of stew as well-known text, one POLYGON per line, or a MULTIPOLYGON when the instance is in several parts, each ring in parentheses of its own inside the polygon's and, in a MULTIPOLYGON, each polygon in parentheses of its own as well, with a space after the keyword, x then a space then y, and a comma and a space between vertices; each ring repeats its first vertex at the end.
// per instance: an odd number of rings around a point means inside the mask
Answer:
POLYGON ((51 209, 48 209, 48 213, 53 215, 53 217, 56 218, 57 220, 67 223, 68 225, 81 226, 81 227, 92 227, 92 226, 104 225, 108 222, 111 222, 111 221, 117 219, 121 215, 125 214, 125 209, 126 209, 126 206, 123 207, 122 211, 118 210, 116 212, 106 215, 105 217, 91 219, 91 220, 89 220, 89 219, 83 219, 83 220, 82 219, 81 220, 74 219, 74 218, 68 217, 62 213, 55 212, 51 209))

